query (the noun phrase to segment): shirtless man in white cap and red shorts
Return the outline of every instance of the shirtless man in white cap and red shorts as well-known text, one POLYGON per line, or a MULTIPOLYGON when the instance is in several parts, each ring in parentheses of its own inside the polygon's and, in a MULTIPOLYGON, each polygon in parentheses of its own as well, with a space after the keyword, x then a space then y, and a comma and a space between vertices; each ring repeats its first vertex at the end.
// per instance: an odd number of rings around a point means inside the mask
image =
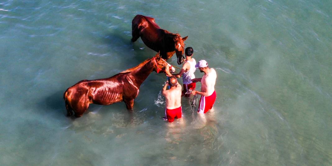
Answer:
POLYGON ((200 60, 195 66, 201 72, 204 72, 202 78, 192 79, 193 82, 201 81, 201 91, 193 90, 192 94, 202 95, 200 99, 200 105, 198 108, 198 113, 205 114, 208 110, 211 110, 216 99, 216 93, 214 90, 215 80, 217 78, 217 73, 213 68, 209 68, 207 61, 200 60))

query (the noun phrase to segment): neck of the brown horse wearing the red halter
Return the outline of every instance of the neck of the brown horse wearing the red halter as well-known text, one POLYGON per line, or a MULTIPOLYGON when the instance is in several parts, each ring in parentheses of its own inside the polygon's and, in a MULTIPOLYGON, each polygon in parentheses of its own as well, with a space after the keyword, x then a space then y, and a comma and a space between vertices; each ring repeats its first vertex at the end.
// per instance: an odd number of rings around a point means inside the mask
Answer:
POLYGON ((135 86, 139 87, 143 81, 150 75, 153 71, 154 63, 152 58, 148 60, 144 65, 137 68, 136 70, 131 71, 130 79, 133 81, 135 86))

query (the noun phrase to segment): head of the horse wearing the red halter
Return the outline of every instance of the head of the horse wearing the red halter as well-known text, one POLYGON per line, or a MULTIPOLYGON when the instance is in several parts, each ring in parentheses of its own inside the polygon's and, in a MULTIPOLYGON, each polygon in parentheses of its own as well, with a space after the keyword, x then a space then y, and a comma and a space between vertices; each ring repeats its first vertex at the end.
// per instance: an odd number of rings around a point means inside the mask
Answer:
POLYGON ((175 68, 169 63, 167 63, 165 59, 161 58, 159 52, 152 59, 155 63, 155 67, 153 70, 157 73, 163 72, 166 75, 171 75, 171 73, 175 72, 175 68))

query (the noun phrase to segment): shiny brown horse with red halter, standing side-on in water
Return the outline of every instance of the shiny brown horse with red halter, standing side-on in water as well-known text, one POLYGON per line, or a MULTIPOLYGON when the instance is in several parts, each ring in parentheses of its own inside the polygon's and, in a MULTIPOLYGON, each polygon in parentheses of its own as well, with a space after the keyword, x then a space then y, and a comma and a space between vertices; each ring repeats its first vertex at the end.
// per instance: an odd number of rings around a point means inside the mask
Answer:
POLYGON ((169 75, 169 68, 175 71, 174 67, 157 53, 136 67, 110 78, 79 81, 63 94, 67 116, 71 116, 74 111, 75 117, 81 117, 90 104, 110 105, 122 101, 128 110, 132 110, 139 87, 149 74, 152 71, 161 71, 169 75))

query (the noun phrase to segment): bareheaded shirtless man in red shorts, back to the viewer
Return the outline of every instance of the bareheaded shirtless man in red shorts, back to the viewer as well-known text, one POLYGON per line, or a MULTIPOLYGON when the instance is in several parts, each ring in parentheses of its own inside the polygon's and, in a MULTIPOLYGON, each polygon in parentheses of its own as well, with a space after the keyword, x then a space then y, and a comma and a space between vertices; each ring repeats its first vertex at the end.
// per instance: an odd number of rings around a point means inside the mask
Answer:
POLYGON ((175 77, 170 77, 161 91, 161 94, 166 99, 165 117, 163 119, 168 120, 168 122, 173 122, 174 118, 179 119, 182 117, 181 89, 178 80, 175 77), (166 90, 168 85, 170 89, 166 90))

